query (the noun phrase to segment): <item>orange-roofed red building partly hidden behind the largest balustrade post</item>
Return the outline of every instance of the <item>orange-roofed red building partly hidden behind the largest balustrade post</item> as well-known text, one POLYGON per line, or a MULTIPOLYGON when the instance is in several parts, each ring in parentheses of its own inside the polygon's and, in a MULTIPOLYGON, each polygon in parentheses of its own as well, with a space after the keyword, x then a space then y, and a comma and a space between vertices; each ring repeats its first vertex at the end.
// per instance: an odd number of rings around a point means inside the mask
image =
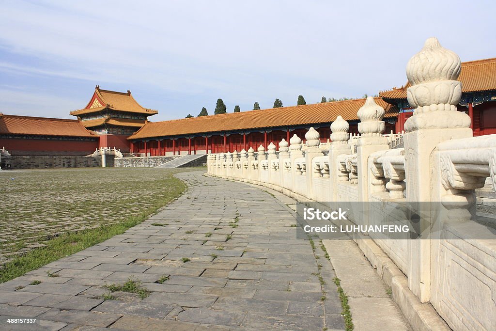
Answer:
MULTIPOLYGON (((466 111, 472 119, 474 136, 496 133, 496 58, 462 62, 458 80, 462 82, 458 110, 466 111)), ((410 83, 379 93, 384 101, 399 109, 396 131, 403 130, 405 121, 413 115, 406 96, 408 87, 410 83)))

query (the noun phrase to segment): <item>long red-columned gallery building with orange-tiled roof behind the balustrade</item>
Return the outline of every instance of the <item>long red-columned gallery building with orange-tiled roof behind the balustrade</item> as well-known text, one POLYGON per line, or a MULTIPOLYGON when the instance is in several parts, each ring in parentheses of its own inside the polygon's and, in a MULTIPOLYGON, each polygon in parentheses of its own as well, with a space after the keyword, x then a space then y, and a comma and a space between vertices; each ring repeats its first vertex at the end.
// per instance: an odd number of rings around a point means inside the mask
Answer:
MULTIPOLYGON (((358 133, 357 112, 366 99, 325 102, 310 105, 270 108, 239 113, 219 114, 181 120, 146 123, 128 139, 131 152, 146 155, 181 155, 240 151, 270 142, 278 146, 282 138, 289 141, 313 127, 320 139, 327 141, 330 124, 341 115, 350 123, 350 132, 358 133)), ((381 98, 375 102, 384 108, 386 132, 394 130, 398 108, 381 98)))

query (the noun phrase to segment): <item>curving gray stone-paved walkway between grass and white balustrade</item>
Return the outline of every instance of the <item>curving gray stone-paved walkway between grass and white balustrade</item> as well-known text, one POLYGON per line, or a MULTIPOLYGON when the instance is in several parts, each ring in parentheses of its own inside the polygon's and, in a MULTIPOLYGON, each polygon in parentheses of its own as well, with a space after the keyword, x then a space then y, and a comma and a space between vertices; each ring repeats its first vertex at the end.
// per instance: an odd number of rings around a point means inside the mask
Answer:
POLYGON ((0 284, 0 330, 344 329, 332 266, 296 239, 290 207, 243 183, 177 176, 187 192, 147 221, 0 284), (129 277, 148 296, 102 287, 129 277))

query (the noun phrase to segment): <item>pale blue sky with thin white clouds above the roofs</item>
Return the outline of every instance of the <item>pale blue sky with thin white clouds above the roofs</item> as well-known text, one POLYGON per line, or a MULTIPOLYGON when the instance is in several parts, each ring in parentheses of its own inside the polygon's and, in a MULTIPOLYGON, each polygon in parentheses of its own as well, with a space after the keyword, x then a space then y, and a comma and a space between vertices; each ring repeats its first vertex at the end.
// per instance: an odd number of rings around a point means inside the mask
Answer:
MULTIPOLYGON (((0 112, 71 118, 95 85, 150 121, 362 97, 406 83, 429 37, 496 57, 494 1, 0 0, 0 112)), ((73 117, 72 117, 73 118, 73 117)))

